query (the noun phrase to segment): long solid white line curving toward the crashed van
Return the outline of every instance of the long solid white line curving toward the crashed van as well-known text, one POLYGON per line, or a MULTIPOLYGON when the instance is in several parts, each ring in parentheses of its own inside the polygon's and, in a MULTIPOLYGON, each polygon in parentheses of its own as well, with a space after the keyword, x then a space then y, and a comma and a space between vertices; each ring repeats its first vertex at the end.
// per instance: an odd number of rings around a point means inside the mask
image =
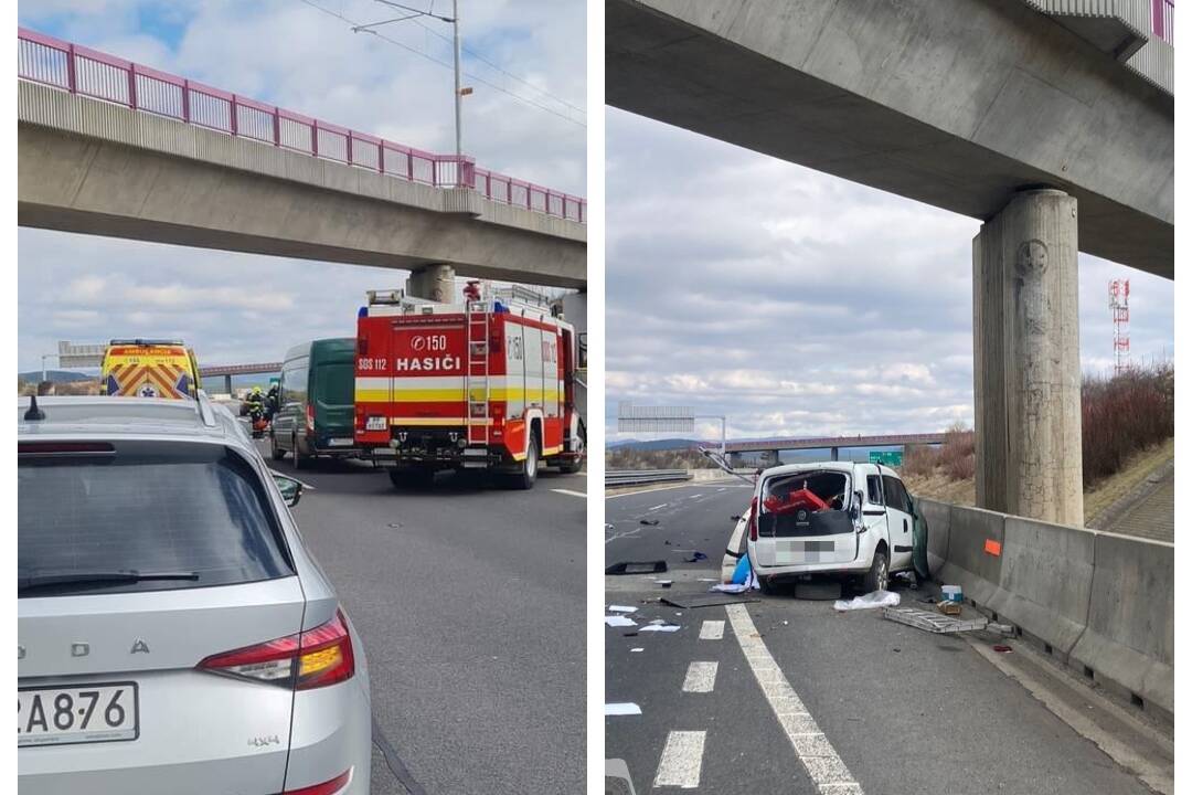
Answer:
POLYGON ((753 670, 753 677, 815 788, 821 795, 864 795, 861 784, 819 729, 815 719, 807 712, 770 650, 765 647, 765 641, 757 634, 749 610, 744 604, 730 604, 726 609, 733 634, 753 670))

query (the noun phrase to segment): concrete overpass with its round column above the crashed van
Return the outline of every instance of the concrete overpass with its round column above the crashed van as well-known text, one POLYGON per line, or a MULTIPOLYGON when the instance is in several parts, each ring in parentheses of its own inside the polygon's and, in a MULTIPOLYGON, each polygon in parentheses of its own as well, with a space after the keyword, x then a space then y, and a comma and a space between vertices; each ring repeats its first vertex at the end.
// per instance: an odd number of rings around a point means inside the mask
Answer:
POLYGON ((606 95, 985 222, 973 241, 977 502, 1080 524, 1076 251, 1174 279, 1172 11, 606 0, 606 95))

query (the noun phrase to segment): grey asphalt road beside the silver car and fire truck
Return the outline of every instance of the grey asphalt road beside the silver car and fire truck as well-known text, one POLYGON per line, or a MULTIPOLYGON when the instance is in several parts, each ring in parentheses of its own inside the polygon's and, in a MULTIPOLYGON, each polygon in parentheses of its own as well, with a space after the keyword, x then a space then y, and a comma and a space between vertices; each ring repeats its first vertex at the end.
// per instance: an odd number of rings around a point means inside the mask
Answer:
MULTIPOLYGON (((266 451, 266 458, 268 453, 266 451)), ((429 795, 584 787, 585 476, 532 491, 317 461, 294 508, 360 633, 373 719, 429 795)), ((405 795, 381 753, 373 793, 405 795)))

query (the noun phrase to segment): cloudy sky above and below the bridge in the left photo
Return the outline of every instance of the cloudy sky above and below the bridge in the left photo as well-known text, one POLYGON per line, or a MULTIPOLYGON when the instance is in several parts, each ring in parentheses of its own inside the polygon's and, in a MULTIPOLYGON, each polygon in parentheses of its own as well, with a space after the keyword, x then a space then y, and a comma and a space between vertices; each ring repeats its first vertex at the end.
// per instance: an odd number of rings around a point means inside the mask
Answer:
MULTIPOLYGON (((404 5, 451 13, 449 0, 404 5)), ((465 85, 474 87, 465 99, 464 150, 482 167, 584 194, 586 118, 576 110, 585 105, 583 0, 460 5, 471 51, 465 85)), ((373 0, 24 0, 18 7, 19 23, 41 32, 452 151, 452 72, 433 61, 451 63, 451 26, 381 29, 401 46, 353 33, 335 14, 355 23, 399 15, 373 0)), ((33 229, 18 230, 18 256, 21 371, 38 369, 58 340, 113 336, 181 336, 211 364, 274 360, 302 340, 354 334, 365 290, 399 287, 406 277, 33 229)))

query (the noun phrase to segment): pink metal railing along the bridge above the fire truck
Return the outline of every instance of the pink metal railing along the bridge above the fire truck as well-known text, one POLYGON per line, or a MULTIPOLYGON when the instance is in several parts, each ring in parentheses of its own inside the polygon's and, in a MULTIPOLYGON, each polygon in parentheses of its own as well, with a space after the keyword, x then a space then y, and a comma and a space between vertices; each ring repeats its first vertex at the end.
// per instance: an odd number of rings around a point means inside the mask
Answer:
POLYGON ((17 29, 17 76, 396 179, 464 186, 502 204, 588 221, 588 203, 579 197, 477 168, 466 155, 404 147, 24 27, 17 29))

